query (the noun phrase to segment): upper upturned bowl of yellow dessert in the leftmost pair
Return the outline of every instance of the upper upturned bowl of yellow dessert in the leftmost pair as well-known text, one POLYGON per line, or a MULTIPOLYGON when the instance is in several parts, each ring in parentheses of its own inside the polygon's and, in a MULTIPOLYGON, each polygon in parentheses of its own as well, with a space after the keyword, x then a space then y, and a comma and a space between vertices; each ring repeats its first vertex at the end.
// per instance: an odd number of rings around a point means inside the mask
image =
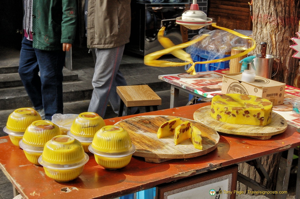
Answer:
POLYGON ((8 130, 25 132, 26 128, 36 120, 41 120, 40 114, 32 108, 19 108, 8 116, 6 128, 8 130))

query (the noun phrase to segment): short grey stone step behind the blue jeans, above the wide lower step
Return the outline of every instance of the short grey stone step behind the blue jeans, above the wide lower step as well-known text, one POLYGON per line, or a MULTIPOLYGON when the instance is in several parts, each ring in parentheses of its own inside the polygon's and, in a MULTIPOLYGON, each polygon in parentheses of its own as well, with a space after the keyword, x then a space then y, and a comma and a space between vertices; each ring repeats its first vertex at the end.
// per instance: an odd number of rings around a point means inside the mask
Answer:
MULTIPOLYGON (((13 68, 13 67, 7 67, 7 68, 13 68)), ((1 68, 3 69, 3 68, 1 68)), ((11 70, 11 69, 10 69, 11 70)), ((4 87, 13 87, 13 86, 22 86, 22 81, 17 73, 18 71, 14 73, 2 73, 0 75, 0 88, 4 87)), ((62 70, 64 75, 64 81, 75 81, 78 80, 78 75, 66 68, 63 68, 62 70)))

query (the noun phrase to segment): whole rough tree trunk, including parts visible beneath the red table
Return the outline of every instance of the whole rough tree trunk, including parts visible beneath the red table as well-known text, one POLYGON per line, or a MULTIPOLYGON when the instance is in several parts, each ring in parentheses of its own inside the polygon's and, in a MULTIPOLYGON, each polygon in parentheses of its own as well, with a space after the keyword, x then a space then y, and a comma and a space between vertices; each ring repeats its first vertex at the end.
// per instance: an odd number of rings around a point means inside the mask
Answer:
MULTIPOLYGON (((267 43, 267 53, 279 58, 279 69, 273 80, 293 85, 294 77, 298 72, 299 60, 293 58, 295 50, 289 48, 295 44, 290 38, 297 37, 299 24, 299 1, 300 0, 253 0, 253 39, 256 41, 254 54, 260 54, 260 42, 267 43)), ((274 63, 273 72, 276 69, 274 63)), ((298 78, 298 76, 296 77, 298 78)), ((262 140, 263 144, 263 140, 262 140)), ((277 170, 279 155, 273 154, 262 157, 261 162, 265 170, 271 177, 272 184, 268 185, 274 189, 277 181, 277 170)), ((246 163, 239 165, 242 174, 260 182, 260 177, 253 166, 246 163)), ((263 182, 266 186, 266 180, 263 182)), ((251 190, 247 186, 238 183, 237 190, 251 190)))

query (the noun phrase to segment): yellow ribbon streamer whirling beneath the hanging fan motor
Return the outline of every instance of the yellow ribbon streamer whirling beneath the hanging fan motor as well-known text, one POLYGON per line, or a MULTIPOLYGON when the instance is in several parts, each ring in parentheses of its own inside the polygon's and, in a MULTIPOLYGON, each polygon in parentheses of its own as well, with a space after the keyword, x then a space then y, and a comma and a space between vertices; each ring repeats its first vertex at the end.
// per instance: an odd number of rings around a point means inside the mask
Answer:
POLYGON ((218 28, 220 30, 223 30, 223 31, 227 31, 227 32, 229 32, 231 34, 234 34, 235 36, 241 37, 243 39, 252 40, 253 44, 246 51, 238 53, 236 55, 232 55, 232 56, 224 57, 224 58, 220 58, 220 59, 215 59, 215 60, 193 62, 192 58, 190 57, 190 54, 188 54, 187 52, 182 50, 182 48, 186 48, 190 45, 193 45, 194 43, 196 43, 198 41, 201 41, 202 39, 204 39, 208 35, 203 34, 203 35, 201 35, 200 37, 198 37, 194 40, 190 40, 188 42, 185 42, 185 43, 182 43, 182 44, 179 44, 179 45, 175 45, 169 38, 164 37, 165 27, 162 27, 160 29, 160 31, 158 32, 158 41, 161 43, 161 45, 165 49, 145 55, 144 63, 148 66, 158 66, 158 67, 184 66, 184 65, 187 65, 187 64, 192 64, 186 72, 191 73, 192 75, 195 75, 196 74, 196 71, 195 71, 195 65, 196 64, 218 63, 218 62, 227 61, 227 60, 230 60, 230 59, 233 59, 233 58, 237 58, 237 57, 241 57, 243 55, 246 55, 255 48, 255 45, 256 45, 255 40, 253 40, 251 37, 245 36, 243 34, 240 34, 236 31, 230 30, 228 28, 219 27, 219 26, 216 25, 216 23, 213 23, 211 26, 214 27, 214 28, 218 28), (184 60, 186 62, 171 62, 171 61, 157 60, 162 55, 165 55, 165 54, 168 54, 168 53, 171 53, 175 57, 177 57, 181 60, 184 60))

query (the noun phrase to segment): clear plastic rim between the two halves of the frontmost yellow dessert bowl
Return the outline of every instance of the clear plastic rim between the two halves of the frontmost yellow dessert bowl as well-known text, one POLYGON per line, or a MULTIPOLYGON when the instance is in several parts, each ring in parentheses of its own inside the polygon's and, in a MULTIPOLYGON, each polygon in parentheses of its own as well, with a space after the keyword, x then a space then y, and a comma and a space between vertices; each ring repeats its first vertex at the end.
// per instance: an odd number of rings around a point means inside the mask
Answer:
POLYGON ((40 156, 38 158, 38 163, 46 168, 66 170, 66 169, 81 167, 88 162, 88 159, 89 159, 88 154, 84 153, 84 158, 82 158, 81 161, 73 163, 73 164, 60 165, 60 164, 53 164, 53 163, 46 162, 43 160, 43 157, 40 156))

